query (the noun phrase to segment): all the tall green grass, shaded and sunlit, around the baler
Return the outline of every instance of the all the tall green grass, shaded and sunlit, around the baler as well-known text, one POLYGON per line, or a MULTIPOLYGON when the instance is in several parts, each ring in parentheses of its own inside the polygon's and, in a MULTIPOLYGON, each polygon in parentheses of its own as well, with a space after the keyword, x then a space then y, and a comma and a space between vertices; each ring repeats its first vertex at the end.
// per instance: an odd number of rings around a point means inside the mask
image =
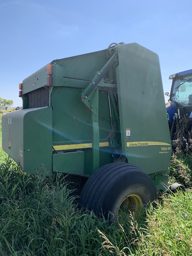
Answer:
POLYGON ((111 225, 78 209, 62 174, 25 174, 0 148, 0 256, 192 255, 191 174, 191 148, 178 147, 169 180, 187 190, 163 195, 139 218, 123 216, 111 225))

